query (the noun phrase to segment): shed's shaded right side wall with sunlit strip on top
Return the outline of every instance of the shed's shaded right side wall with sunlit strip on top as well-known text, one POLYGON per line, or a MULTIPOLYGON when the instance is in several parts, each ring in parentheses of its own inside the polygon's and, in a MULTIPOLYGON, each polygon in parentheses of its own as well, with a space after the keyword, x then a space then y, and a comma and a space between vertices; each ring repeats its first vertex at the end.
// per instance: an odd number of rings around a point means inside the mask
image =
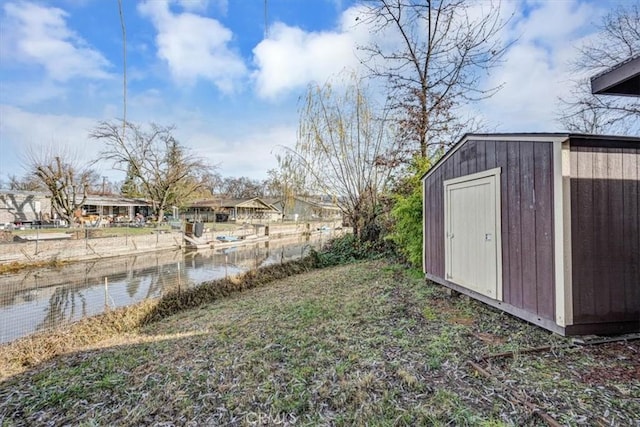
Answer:
POLYGON ((573 323, 640 323, 640 142, 572 138, 570 162, 573 323))

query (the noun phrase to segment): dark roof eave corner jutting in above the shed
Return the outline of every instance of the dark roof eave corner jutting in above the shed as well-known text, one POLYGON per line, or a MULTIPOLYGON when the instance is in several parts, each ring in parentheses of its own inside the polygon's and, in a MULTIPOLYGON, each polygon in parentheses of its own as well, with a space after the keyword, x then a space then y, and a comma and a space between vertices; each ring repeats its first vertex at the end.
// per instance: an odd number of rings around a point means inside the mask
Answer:
POLYGON ((591 93, 640 96, 640 55, 591 77, 591 93))

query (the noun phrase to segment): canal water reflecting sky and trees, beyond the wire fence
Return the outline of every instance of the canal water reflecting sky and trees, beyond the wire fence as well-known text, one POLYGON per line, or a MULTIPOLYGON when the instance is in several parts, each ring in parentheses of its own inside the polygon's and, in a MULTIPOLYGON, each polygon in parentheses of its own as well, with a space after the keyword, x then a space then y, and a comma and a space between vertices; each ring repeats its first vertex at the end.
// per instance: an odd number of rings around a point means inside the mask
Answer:
POLYGON ((329 236, 161 251, 0 275, 0 344, 200 283, 298 259, 329 236))

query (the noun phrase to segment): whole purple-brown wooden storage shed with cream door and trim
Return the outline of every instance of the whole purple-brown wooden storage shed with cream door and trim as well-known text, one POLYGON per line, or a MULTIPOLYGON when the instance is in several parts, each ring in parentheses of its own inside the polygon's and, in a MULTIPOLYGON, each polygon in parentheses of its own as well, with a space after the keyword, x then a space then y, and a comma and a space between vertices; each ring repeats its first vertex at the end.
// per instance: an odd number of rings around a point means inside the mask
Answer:
POLYGON ((428 279, 562 335, 640 332, 640 138, 469 134, 422 179, 428 279))

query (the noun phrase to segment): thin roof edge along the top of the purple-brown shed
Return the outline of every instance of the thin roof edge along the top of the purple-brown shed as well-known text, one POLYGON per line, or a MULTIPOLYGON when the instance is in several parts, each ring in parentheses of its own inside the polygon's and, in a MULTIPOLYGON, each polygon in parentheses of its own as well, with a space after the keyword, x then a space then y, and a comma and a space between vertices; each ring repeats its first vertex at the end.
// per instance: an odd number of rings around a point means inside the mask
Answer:
POLYGON ((617 143, 634 142, 637 143, 639 138, 632 136, 619 135, 592 135, 583 133, 544 133, 544 132, 523 132, 523 133, 467 133, 462 136, 438 161, 425 172, 420 179, 424 180, 438 169, 449 157, 460 149, 467 141, 471 140, 493 140, 493 141, 527 141, 527 142, 550 142, 550 141, 566 141, 569 138, 580 138, 583 140, 592 140, 594 145, 603 145, 606 141, 616 141, 617 143), (600 143, 598 143, 600 141, 600 143))

